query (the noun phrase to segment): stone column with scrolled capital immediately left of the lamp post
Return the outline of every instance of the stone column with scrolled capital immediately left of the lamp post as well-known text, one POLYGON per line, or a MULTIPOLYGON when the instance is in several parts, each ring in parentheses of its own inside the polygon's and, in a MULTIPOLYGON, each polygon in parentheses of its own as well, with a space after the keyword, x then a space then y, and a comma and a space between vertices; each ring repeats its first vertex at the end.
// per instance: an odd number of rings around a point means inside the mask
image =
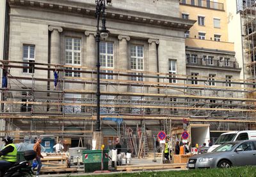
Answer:
MULTIPOLYGON (((97 59, 96 59, 96 41, 95 41, 95 32, 93 31, 85 31, 84 35, 86 36, 86 56, 84 57, 84 66, 86 67, 96 67, 97 59)), ((89 69, 88 71, 92 71, 92 69, 89 69)), ((84 74, 86 78, 97 78, 96 75, 96 69, 94 70, 95 74, 84 74)), ((88 80, 94 81, 95 84, 86 84, 84 85, 84 90, 95 90, 97 89, 96 80, 88 80)))

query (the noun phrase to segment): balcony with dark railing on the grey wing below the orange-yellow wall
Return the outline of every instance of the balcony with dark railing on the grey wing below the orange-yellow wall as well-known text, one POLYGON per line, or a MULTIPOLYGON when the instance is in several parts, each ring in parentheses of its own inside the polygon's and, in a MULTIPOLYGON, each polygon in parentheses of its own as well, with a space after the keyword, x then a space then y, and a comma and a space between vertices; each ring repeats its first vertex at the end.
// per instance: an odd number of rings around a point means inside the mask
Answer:
POLYGON ((214 59, 202 59, 189 57, 186 59, 186 64, 194 66, 207 66, 207 67, 224 67, 239 69, 238 63, 233 61, 214 60, 214 59))

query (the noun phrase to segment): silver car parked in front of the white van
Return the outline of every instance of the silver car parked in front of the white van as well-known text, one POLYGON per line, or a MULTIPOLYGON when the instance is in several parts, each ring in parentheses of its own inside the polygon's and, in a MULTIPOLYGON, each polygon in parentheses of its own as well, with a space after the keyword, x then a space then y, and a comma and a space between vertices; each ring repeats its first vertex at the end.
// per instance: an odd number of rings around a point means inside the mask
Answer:
POLYGON ((187 164, 188 169, 255 165, 255 140, 225 143, 210 153, 190 157, 187 164))

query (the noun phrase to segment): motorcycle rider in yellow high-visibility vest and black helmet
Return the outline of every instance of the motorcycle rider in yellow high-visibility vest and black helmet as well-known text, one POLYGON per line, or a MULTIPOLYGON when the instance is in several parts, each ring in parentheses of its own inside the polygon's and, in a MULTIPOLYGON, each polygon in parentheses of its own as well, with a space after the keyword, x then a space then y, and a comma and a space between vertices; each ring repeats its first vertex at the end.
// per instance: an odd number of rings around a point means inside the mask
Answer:
POLYGON ((13 144, 13 139, 7 136, 2 141, 4 141, 5 146, 0 151, 0 177, 3 177, 5 171, 17 161, 17 148, 13 144))

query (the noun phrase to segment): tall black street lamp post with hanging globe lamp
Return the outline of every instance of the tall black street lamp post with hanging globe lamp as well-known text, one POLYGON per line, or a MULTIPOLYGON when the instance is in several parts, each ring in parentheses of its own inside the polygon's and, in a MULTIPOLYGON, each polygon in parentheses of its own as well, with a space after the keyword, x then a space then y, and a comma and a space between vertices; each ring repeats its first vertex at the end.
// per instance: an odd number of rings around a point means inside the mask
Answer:
MULTIPOLYGON (((105 0, 95 0, 96 11, 95 16, 97 18, 97 34, 96 34, 96 45, 97 45, 97 120, 96 120, 96 131, 100 132, 100 38, 108 38, 109 31, 106 29, 106 18, 105 18, 105 0), (102 15, 102 29, 99 29, 100 14, 102 15)), ((111 1, 107 0, 107 3, 111 1)))

